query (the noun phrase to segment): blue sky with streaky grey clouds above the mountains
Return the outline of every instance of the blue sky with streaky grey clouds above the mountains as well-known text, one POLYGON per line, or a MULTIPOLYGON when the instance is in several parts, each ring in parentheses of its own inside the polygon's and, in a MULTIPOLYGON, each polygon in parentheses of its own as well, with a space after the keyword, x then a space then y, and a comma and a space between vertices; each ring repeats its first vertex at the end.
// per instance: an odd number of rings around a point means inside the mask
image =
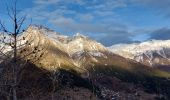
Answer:
MULTIPOLYGON (((5 2, 12 0, 0 0, 0 19, 8 23, 5 2)), ((65 35, 80 32, 106 46, 170 39, 169 5, 170 0, 18 0, 33 24, 65 35)))

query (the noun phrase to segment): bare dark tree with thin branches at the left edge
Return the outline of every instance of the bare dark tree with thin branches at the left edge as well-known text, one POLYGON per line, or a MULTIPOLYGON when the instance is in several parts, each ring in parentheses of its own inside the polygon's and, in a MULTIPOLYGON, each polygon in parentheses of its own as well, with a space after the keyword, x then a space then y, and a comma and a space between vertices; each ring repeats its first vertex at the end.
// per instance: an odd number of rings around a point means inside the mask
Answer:
MULTIPOLYGON (((11 21, 12 30, 5 26, 5 23, 0 19, 0 62, 3 62, 8 59, 12 59, 8 66, 12 69, 12 81, 10 84, 4 84, 11 86, 11 94, 13 100, 17 100, 17 85, 18 85, 18 72, 21 69, 21 66, 24 63, 21 63, 22 57, 18 57, 19 52, 23 49, 20 49, 21 46, 29 46, 30 43, 25 41, 22 43, 21 41, 25 40, 26 37, 18 38, 19 35, 23 32, 26 32, 23 28, 24 22, 26 20, 26 15, 20 16, 20 11, 17 9, 17 0, 14 0, 14 4, 12 7, 7 7, 7 15, 9 20, 11 21)), ((28 53, 29 54, 29 53, 28 53)), ((24 56, 25 57, 25 56, 24 56)))

